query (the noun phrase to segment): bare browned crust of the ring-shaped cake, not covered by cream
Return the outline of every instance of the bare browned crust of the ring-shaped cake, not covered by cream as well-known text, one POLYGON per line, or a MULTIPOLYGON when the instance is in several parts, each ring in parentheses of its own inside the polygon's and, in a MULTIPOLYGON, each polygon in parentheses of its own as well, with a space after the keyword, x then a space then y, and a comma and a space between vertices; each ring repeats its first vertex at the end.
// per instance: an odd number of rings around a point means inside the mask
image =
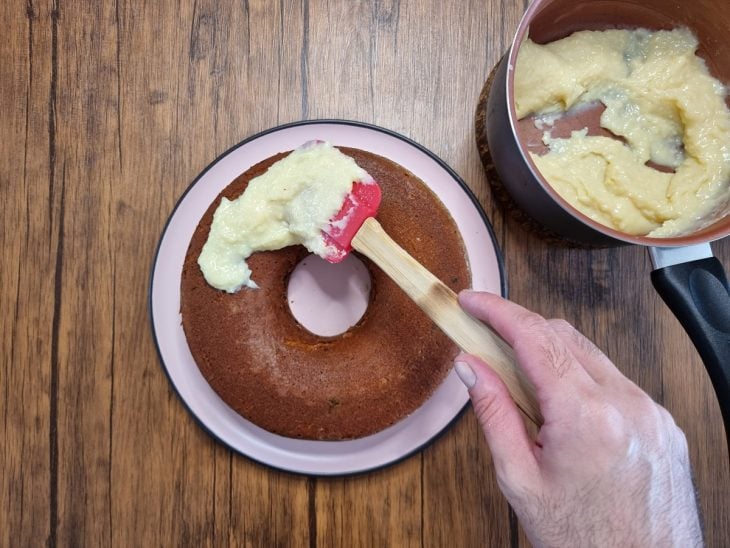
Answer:
MULTIPOLYGON (((440 201, 401 166, 341 148, 383 192, 378 220, 416 259, 454 290, 470 285, 463 244, 440 201)), ((240 175, 221 196, 285 154, 240 175)), ((197 264, 220 196, 190 242, 181 283, 182 320, 200 371, 220 397, 253 423, 287 437, 357 438, 417 409, 451 367, 457 348, 380 269, 370 270, 370 304, 361 321, 335 337, 313 335, 293 318, 288 277, 302 246, 255 253, 248 263, 258 290, 228 294, 209 286, 197 264)))

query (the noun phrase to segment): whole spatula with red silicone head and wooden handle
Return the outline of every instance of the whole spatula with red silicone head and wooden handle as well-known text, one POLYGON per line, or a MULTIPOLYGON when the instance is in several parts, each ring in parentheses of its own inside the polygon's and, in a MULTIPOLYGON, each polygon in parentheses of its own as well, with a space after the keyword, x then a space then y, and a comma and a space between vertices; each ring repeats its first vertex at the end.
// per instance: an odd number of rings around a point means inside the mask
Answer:
POLYGON ((500 376, 512 399, 538 426, 542 415, 535 389, 522 374, 514 352, 497 334, 459 305, 454 293, 400 247, 375 220, 380 187, 356 181, 342 208, 322 231, 334 251, 325 257, 340 262, 353 249, 377 264, 464 352, 478 356, 500 376))

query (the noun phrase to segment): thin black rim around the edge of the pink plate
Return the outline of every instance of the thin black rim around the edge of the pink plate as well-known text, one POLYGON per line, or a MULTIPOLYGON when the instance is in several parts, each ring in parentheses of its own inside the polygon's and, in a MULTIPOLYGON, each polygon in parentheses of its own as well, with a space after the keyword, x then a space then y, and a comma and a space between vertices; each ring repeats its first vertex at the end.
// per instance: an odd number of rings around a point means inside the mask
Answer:
POLYGON ((170 221, 175 216, 175 213, 177 212, 177 209, 180 206, 180 204, 183 202, 183 200, 185 200, 185 197, 187 196, 188 192, 190 192, 190 190, 198 183, 198 181, 215 164, 217 164, 221 159, 223 159, 225 156, 227 156, 228 154, 230 154, 234 150, 242 147, 243 145, 245 145, 245 144, 247 144, 247 143, 249 143, 251 141, 254 141, 254 140, 256 140, 256 139, 258 139, 260 137, 263 137, 264 135, 268 135, 270 133, 275 133, 275 132, 278 132, 278 131, 282 131, 282 130, 285 130, 285 129, 288 129, 288 128, 292 128, 292 127, 297 127, 297 126, 306 126, 306 125, 333 125, 333 124, 335 124, 335 125, 345 125, 345 126, 354 126, 354 127, 358 127, 358 128, 363 128, 363 129, 368 129, 368 130, 372 130, 372 131, 377 131, 379 133, 383 133, 385 135, 388 135, 388 136, 391 136, 391 137, 395 137, 395 138, 400 139, 401 141, 404 141, 405 143, 407 143, 407 144, 409 144, 409 145, 417 148, 418 150, 420 150, 421 152, 423 152, 424 154, 426 154, 427 156, 429 156, 431 159, 433 159, 437 164, 439 164, 439 166, 441 168, 443 168, 451 176, 451 178, 453 178, 454 181, 461 187, 461 190, 466 193, 466 195, 469 197, 469 199, 471 200, 471 202, 474 204, 474 207, 476 208, 476 210, 479 212, 479 215, 482 218, 482 222, 484 223, 484 226, 486 227, 487 232, 489 233, 489 237, 492 240, 492 247, 494 248, 494 252, 495 252, 495 255, 496 255, 497 265, 499 267, 499 278, 500 278, 499 285, 500 285, 500 292, 501 292, 502 296, 505 297, 505 298, 507 297, 507 293, 508 293, 508 291, 507 291, 507 280, 506 280, 506 276, 505 276, 505 272, 504 272, 504 259, 502 257, 502 253, 500 251, 499 245, 497 244, 497 239, 496 239, 496 237, 494 235, 494 230, 492 229, 492 224, 489 222, 489 219, 487 218, 487 215, 484 212, 484 208, 479 203, 479 200, 477 200, 476 196, 471 191, 471 189, 466 185, 466 183, 464 182, 464 180, 453 169, 451 169, 451 167, 446 162, 444 162, 441 158, 439 158, 436 154, 434 154, 433 152, 431 152, 430 150, 428 150, 423 145, 417 143, 416 141, 410 139, 409 137, 406 137, 405 135, 401 135, 400 133, 397 133, 395 131, 392 131, 390 129, 386 129, 386 128, 383 128, 383 127, 380 127, 380 126, 376 126, 376 125, 373 125, 373 124, 368 124, 368 123, 365 123, 365 122, 357 122, 357 121, 354 121, 354 120, 341 120, 341 119, 301 120, 301 121, 298 121, 298 122, 291 122, 291 123, 288 123, 288 124, 282 124, 282 125, 279 125, 279 126, 275 126, 275 127, 266 129, 264 131, 261 131, 259 133, 256 133, 254 135, 251 135, 250 137, 247 137, 246 139, 244 139, 244 140, 240 141, 239 143, 233 145, 228 150, 226 150, 225 152, 223 152, 222 154, 220 154, 217 158, 215 158, 215 160, 213 160, 211 163, 209 163, 205 167, 205 169, 203 169, 198 174, 198 176, 195 177, 195 179, 188 185, 188 187, 185 189, 185 191, 182 193, 182 195, 180 196, 180 198, 175 203, 175 207, 172 209, 172 212, 168 216, 167 221, 165 222, 165 226, 162 229, 162 234, 160 236, 160 240, 157 242, 157 246, 155 247, 155 253, 154 253, 154 256, 152 258, 152 268, 150 270, 149 291, 148 291, 148 298, 147 298, 148 307, 147 308, 148 308, 148 317, 149 317, 149 321, 150 321, 150 327, 152 329, 152 338, 153 338, 154 343, 155 343, 155 348, 157 349, 157 357, 158 357, 160 366, 162 367, 162 370, 164 371, 165 376, 167 377, 167 380, 172 385, 172 387, 173 387, 173 389, 175 391, 175 394, 177 395, 178 400, 180 402, 182 402, 183 406, 185 407, 185 409, 187 409, 188 413, 190 413, 190 415, 192 415, 192 417, 195 419, 195 422, 197 422, 198 425, 205 432, 207 432, 208 435, 211 436, 214 440, 216 440, 218 443, 224 445, 225 447, 227 447, 231 451, 233 451, 233 452, 235 452, 235 453, 237 453, 237 454, 239 454, 239 455, 241 455, 243 457, 246 457, 248 460, 250 460, 252 462, 255 462, 257 464, 260 464, 262 466, 265 466, 267 468, 270 468, 270 469, 273 469, 273 470, 277 470, 277 471, 281 471, 281 472, 286 472, 286 473, 289 473, 289 474, 295 474, 295 475, 300 475, 300 476, 308 476, 308 477, 314 477, 314 478, 317 478, 317 477, 345 477, 345 476, 356 476, 356 475, 360 475, 360 474, 367 474, 367 473, 370 473, 370 472, 374 472, 376 470, 381 470, 383 468, 387 468, 389 466, 393 466, 395 464, 398 464, 399 462, 402 462, 402 461, 408 459, 412 455, 415 455, 417 453, 420 453, 426 447, 428 447, 429 445, 431 445, 432 443, 434 443, 436 440, 438 440, 442 435, 444 435, 454 425, 454 423, 456 423, 456 421, 461 418, 461 416, 464 414, 464 411, 466 411, 466 408, 469 406, 469 402, 467 401, 464 404, 464 406, 461 408, 461 410, 440 431, 438 431, 436 434, 434 434, 433 436, 431 436, 431 438, 429 438, 426 441, 424 441, 421 445, 419 445, 415 449, 412 449, 411 451, 408 451, 407 453, 401 455, 398 458, 395 458, 393 460, 390 460, 390 461, 385 462, 385 463, 382 463, 382 464, 378 464, 376 466, 372 466, 370 468, 363 468, 363 469, 353 470, 351 472, 336 472, 336 473, 332 473, 332 474, 327 474, 327 473, 313 473, 313 472, 299 471, 299 470, 294 470, 294 469, 289 469, 289 468, 283 468, 281 466, 276 466, 276 465, 270 464, 268 462, 259 460, 259 459, 255 458, 255 457, 252 457, 251 455, 243 452, 242 450, 238 449, 237 447, 233 447, 227 441, 225 441, 224 439, 220 438, 217 434, 215 434, 203 422, 203 420, 200 417, 198 417, 198 415, 195 414, 195 412, 188 405, 187 401, 185 401, 185 399, 180 395, 180 391, 178 390, 177 385, 175 384, 175 381, 172 379, 172 376, 170 375, 170 371, 167 368, 167 364, 165 363, 165 360, 162 358, 162 352, 160 350, 160 343, 159 343, 159 341, 157 339, 157 331, 155 329, 154 315, 153 315, 153 309, 152 309, 152 287, 153 287, 153 284, 154 284, 154 281, 155 281, 155 267, 157 265, 157 258, 158 258, 159 253, 160 253, 160 247, 162 246, 162 242, 164 241, 165 235, 167 234, 167 229, 169 227, 170 221))

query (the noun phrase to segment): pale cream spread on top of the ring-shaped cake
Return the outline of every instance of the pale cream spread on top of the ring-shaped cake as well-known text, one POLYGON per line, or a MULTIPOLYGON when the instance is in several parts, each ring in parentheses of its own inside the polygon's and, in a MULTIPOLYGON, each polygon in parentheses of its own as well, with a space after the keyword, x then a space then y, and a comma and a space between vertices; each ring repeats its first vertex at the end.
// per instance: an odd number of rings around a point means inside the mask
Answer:
POLYGON ((256 251, 302 244, 326 256, 331 250, 322 229, 357 180, 372 178, 329 143, 313 141, 292 151, 252 179, 241 196, 221 199, 198 257, 205 280, 229 293, 257 287, 246 264, 256 251))

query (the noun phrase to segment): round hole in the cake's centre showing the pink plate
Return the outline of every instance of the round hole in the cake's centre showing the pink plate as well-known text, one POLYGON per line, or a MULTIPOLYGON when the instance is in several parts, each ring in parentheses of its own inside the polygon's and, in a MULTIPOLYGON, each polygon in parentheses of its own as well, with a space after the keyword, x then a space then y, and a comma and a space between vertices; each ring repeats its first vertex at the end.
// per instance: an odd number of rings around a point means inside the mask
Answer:
POLYGON ((360 321, 370 302, 370 272, 354 254, 337 264, 308 255, 287 286, 289 310, 308 331, 340 335, 360 321))

